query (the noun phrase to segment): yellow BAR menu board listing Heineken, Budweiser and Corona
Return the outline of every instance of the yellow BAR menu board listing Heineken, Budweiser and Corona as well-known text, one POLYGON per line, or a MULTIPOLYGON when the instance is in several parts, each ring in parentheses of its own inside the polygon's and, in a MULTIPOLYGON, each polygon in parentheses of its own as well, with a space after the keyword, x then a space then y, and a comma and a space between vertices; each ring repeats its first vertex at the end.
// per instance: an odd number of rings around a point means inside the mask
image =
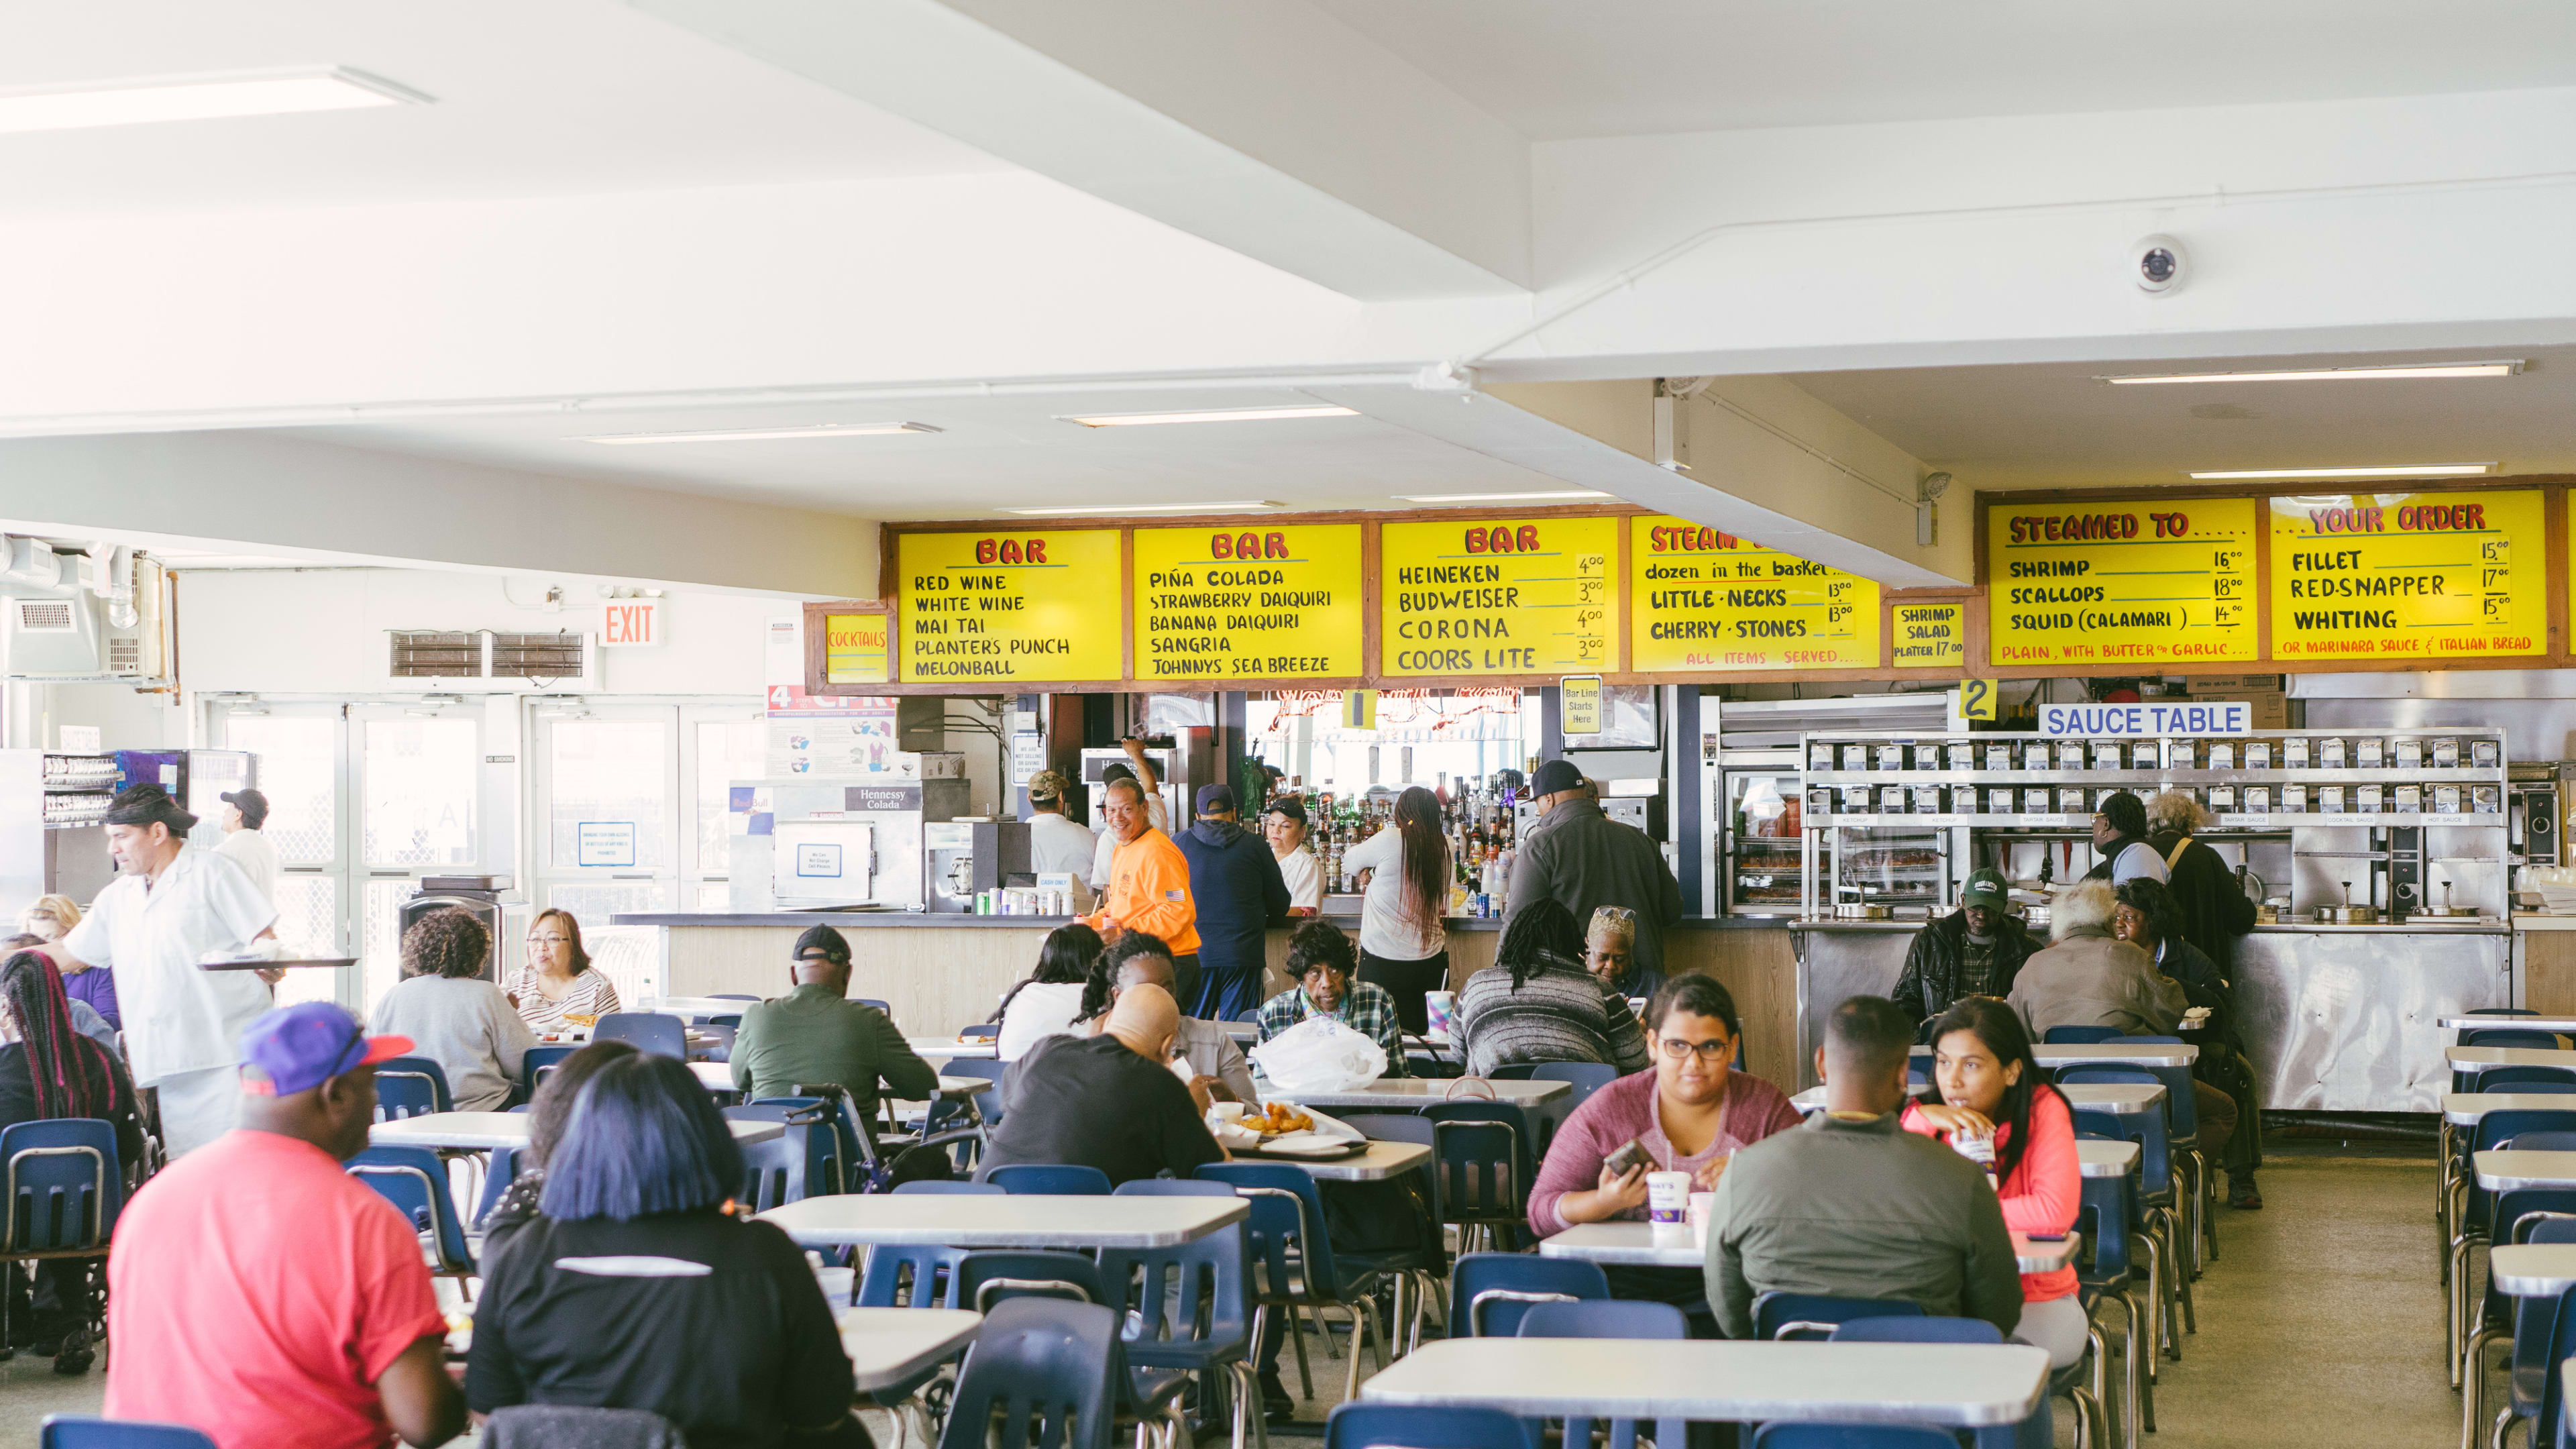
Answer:
POLYGON ((1613 668, 1618 518, 1455 518, 1378 529, 1378 673, 1613 668))

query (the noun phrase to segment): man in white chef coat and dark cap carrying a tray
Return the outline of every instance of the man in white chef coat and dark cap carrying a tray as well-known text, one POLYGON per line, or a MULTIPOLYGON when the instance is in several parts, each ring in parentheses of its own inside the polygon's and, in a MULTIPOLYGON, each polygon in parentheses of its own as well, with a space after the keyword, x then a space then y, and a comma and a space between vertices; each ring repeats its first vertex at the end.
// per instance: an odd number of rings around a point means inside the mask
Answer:
POLYGON ((276 951, 278 913, 242 866, 188 843, 196 817, 157 784, 108 807, 116 879, 62 941, 57 964, 116 972, 134 1083, 160 1088, 162 1147, 178 1158, 240 1127, 240 1036, 270 1006, 268 975, 204 972, 276 951))

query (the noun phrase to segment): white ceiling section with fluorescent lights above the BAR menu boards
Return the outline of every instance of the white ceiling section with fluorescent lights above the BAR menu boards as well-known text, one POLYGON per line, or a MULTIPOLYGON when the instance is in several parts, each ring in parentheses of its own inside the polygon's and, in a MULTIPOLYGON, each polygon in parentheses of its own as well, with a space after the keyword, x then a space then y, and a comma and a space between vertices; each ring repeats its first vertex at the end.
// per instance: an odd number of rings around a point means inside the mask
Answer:
POLYGON ((1278 389, 1051 392, 866 405, 742 405, 286 428, 353 449, 538 469, 886 521, 976 518, 1079 503, 1278 500, 1296 508, 1414 508, 1396 492, 1564 487, 1376 418, 1084 428, 1061 415, 1296 407, 1278 389), (927 423, 940 433, 737 443, 590 443, 598 433, 927 423))

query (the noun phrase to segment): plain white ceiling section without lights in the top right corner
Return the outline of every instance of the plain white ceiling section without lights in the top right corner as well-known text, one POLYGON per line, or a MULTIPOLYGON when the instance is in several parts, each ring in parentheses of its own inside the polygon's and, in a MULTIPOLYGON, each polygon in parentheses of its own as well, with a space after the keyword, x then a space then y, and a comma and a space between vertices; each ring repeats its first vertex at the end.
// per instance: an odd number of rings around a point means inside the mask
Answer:
POLYGON ((1314 0, 1530 139, 2576 83, 2563 0, 1314 0))

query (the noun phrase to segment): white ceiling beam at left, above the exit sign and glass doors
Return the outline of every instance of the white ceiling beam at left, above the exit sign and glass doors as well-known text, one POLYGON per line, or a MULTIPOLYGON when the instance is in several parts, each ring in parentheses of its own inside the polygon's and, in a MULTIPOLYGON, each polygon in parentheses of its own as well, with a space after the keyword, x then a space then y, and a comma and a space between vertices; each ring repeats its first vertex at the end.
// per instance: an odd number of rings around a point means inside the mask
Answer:
POLYGON ((876 523, 263 433, 0 441, 0 518, 327 562, 876 593, 876 523))

